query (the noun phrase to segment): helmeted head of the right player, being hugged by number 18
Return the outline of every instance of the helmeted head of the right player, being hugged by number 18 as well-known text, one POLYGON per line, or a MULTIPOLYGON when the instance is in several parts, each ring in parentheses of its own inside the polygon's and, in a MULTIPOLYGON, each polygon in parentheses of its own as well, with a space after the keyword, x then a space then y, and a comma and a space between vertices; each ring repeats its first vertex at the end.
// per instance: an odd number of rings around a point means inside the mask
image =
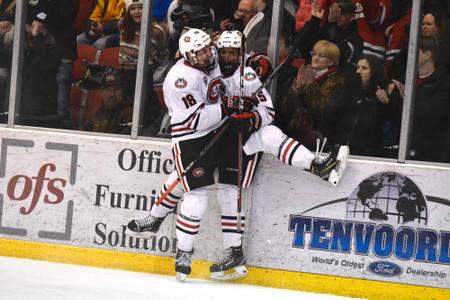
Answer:
POLYGON ((224 31, 217 40, 220 70, 225 76, 234 73, 240 63, 242 33, 238 30, 224 31))

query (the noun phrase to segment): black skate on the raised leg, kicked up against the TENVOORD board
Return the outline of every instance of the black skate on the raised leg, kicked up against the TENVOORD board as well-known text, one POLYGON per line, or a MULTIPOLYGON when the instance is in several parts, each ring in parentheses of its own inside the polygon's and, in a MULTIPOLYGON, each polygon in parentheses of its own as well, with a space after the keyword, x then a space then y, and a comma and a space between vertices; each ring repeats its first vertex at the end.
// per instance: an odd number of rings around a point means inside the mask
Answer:
POLYGON ((328 153, 322 155, 325 143, 326 138, 319 151, 320 141, 317 141, 316 158, 311 164, 310 171, 323 180, 329 181, 332 185, 337 186, 347 166, 350 149, 348 146, 334 145, 328 153))

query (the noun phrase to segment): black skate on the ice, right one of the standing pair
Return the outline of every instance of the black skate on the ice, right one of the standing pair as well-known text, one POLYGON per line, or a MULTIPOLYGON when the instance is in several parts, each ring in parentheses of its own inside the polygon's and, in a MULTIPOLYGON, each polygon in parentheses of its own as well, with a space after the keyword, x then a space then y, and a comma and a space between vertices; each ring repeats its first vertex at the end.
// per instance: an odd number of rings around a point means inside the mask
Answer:
POLYGON ((242 246, 225 249, 225 255, 217 263, 213 264, 209 271, 213 280, 231 280, 245 277, 245 257, 242 246))

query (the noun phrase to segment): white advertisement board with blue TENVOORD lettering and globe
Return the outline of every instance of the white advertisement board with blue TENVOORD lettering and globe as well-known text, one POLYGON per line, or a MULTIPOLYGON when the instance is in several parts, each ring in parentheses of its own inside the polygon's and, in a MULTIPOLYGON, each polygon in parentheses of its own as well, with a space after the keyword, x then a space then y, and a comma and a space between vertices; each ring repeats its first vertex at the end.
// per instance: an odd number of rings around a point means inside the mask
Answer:
POLYGON ((256 174, 249 263, 448 288, 449 170, 350 163, 338 187, 266 156, 256 174))

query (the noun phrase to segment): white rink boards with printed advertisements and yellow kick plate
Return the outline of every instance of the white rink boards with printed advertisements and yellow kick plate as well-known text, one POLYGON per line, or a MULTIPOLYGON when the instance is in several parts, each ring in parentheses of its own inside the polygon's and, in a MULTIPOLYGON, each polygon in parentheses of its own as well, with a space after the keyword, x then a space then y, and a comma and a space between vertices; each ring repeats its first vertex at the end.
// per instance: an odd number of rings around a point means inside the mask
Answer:
MULTIPOLYGON (((0 128, 0 255, 173 275, 174 214, 148 240, 167 141, 0 128)), ((241 282, 366 298, 450 298, 450 170, 351 160, 338 187, 264 156, 244 191, 241 282)), ((193 277, 221 255, 215 187, 193 277)))

